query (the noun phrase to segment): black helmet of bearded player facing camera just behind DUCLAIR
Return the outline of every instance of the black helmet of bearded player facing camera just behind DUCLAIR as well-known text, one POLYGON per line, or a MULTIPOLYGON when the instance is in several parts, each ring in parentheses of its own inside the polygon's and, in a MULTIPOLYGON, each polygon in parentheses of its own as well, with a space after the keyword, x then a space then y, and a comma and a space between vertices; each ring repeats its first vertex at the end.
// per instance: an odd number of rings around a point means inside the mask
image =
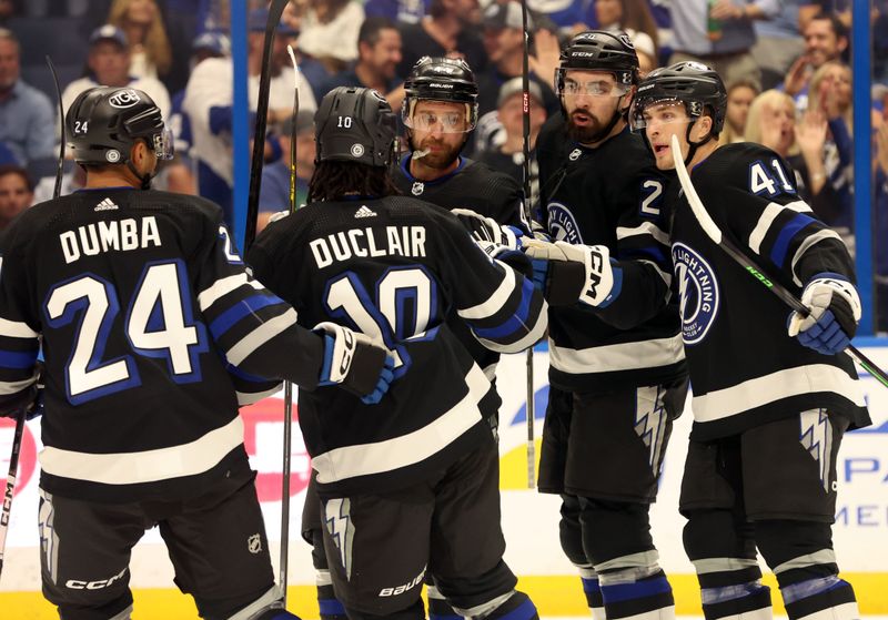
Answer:
POLYGON ((478 84, 468 63, 461 58, 422 57, 404 82, 404 105, 401 116, 406 126, 420 100, 465 103, 467 131, 475 129, 478 119, 478 84))

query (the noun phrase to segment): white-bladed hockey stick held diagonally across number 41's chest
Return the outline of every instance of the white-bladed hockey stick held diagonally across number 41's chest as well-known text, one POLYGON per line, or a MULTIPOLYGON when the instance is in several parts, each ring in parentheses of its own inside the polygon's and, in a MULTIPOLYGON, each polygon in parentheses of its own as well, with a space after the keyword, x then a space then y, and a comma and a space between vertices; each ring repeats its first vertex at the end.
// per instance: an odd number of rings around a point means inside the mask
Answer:
MULTIPOLYGON (((697 218, 697 222, 699 223, 700 227, 703 227, 703 231, 706 233, 706 235, 713 240, 718 247, 724 250, 728 256, 734 258, 738 265, 749 272, 753 277, 767 286, 768 289, 777 295, 777 297, 779 297, 786 305, 798 312, 801 316, 808 316, 810 311, 805 304, 803 304, 795 295, 793 295, 793 293, 787 291, 787 288, 784 287, 779 282, 770 279, 765 274, 764 270, 761 270, 761 267, 755 263, 755 261, 744 254, 736 245, 734 245, 734 243, 730 242, 730 240, 725 238, 724 235, 722 235, 722 230, 706 211, 703 201, 697 194, 697 191, 694 189, 694 183, 690 181, 687 166, 682 159, 682 145, 678 143, 678 136, 676 135, 673 135, 672 139, 672 150, 673 157, 675 160, 675 171, 678 173, 678 181, 682 183, 682 189, 685 191, 687 203, 690 205, 694 216, 697 218)), ((851 359, 857 362, 867 373, 872 375, 876 380, 878 380, 885 387, 888 387, 888 377, 886 377, 885 373, 862 353, 857 350, 854 345, 848 345, 846 352, 851 356, 851 359)))

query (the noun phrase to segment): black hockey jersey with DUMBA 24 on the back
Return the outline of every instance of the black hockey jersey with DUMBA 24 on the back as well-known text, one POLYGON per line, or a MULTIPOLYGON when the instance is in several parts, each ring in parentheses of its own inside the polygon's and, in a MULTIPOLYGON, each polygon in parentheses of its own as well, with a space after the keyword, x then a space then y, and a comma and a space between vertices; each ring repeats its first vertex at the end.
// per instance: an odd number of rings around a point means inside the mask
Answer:
POLYGON ((323 362, 322 338, 248 277, 221 210, 157 191, 80 191, 8 228, 4 394, 33 382, 39 335, 41 486, 97 501, 186 497, 249 467, 235 390, 311 388, 323 362))

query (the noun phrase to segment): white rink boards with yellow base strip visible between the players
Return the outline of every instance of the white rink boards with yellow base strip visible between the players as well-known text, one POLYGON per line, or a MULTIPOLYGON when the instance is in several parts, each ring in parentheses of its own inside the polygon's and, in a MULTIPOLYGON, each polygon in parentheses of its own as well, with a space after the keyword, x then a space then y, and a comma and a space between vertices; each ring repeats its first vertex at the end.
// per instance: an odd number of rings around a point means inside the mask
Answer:
MULTIPOLYGON (((882 368, 888 347, 864 348, 882 368)), ((541 616, 583 616, 584 598, 571 563, 558 543, 558 498, 527 489, 524 355, 505 356, 498 369, 503 396, 501 413, 501 487, 506 561, 522 577, 541 616)), ((538 437, 548 393, 548 354, 534 354, 535 418, 538 437)), ((726 365, 729 362, 726 360, 726 365)), ((726 369, 726 372, 728 372, 726 369)), ((839 454, 839 501, 835 546, 842 573, 855 585, 862 613, 888 613, 888 389, 862 378, 874 426, 846 436, 839 454)), ((283 403, 268 398, 242 410, 245 444, 256 469, 258 490, 266 518, 269 538, 280 539, 280 485, 283 403)), ((294 407, 294 410, 296 408, 294 407)), ((660 492, 652 511, 654 540, 676 593, 678 613, 699 613, 699 590, 682 548, 684 518, 677 512, 682 467, 690 428, 689 403, 676 421, 666 451, 660 492)), ((56 618, 40 597, 39 537, 37 528, 39 419, 28 423, 12 506, 12 521, 0 580, 0 617, 3 619, 56 618)), ((317 616, 314 575, 309 548, 297 537, 299 520, 310 470, 309 457, 297 428, 293 434, 291 488, 290 594, 291 608, 303 617, 317 616)), ((12 425, 0 420, 0 471, 8 470, 12 425)), ((272 555, 278 558, 276 547, 272 555)), ((763 563, 764 566, 764 563, 763 563)), ((172 567, 157 529, 145 535, 133 552, 131 583, 137 591, 134 618, 194 618, 190 598, 172 587, 172 567), (163 611, 160 611, 163 610, 163 611)), ((774 586, 773 580, 770 581, 774 586)), ((775 606, 779 596, 774 588, 775 606)))

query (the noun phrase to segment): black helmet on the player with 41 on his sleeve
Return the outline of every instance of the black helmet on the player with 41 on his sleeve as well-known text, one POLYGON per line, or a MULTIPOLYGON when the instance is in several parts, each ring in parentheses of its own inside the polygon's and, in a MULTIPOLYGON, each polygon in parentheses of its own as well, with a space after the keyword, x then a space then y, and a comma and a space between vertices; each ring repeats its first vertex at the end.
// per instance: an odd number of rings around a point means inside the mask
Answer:
POLYGON ((725 126, 728 93, 722 77, 699 62, 677 62, 655 69, 638 84, 633 104, 632 123, 644 128, 645 108, 660 101, 680 101, 692 121, 699 119, 706 106, 713 114, 713 135, 725 126))

